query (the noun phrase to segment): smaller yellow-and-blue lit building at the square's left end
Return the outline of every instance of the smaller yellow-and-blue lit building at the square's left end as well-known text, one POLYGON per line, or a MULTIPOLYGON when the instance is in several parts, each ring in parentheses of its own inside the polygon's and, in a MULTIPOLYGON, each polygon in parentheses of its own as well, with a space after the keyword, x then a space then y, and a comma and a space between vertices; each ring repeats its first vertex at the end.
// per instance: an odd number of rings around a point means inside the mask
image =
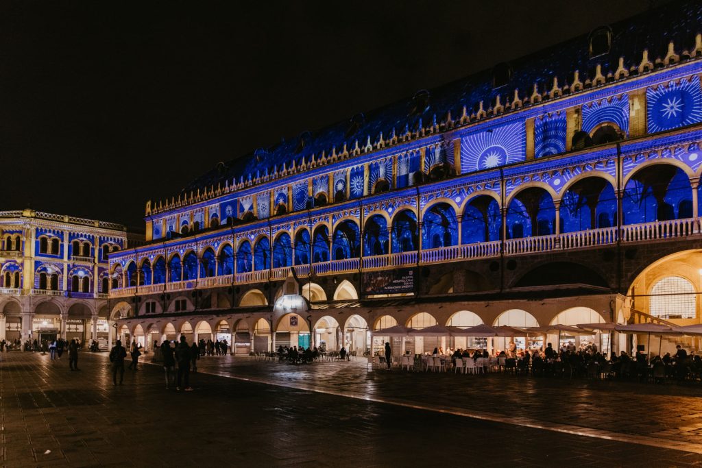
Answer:
POLYGON ((107 341, 107 256, 126 242, 112 222, 0 211, 0 340, 107 341))

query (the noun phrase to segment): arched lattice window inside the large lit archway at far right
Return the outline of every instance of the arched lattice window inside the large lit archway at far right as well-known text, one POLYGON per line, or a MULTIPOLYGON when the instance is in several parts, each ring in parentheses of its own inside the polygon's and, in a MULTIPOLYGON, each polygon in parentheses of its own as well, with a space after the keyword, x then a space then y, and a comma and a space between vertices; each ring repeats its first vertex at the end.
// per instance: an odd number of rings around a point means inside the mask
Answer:
POLYGON ((680 276, 666 276, 651 288, 649 313, 661 319, 694 319, 694 286, 680 276))

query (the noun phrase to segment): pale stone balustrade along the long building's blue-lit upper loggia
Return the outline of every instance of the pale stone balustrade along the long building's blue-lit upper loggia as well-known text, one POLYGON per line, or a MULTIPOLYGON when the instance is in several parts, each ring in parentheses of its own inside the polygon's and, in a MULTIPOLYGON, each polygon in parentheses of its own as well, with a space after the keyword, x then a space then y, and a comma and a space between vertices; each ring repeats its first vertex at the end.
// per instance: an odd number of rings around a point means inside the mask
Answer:
MULTIPOLYGON (((626 225, 621 227, 621 241, 623 243, 650 242, 660 239, 684 239, 688 236, 702 234, 700 220, 690 218, 684 220, 647 222, 639 225, 626 225)), ((548 236, 524 237, 521 239, 508 239, 504 242, 505 255, 524 255, 529 253, 552 252, 578 248, 592 248, 616 243, 618 229, 616 227, 602 227, 564 234, 550 234, 548 236)), ((501 255, 501 241, 479 242, 421 250, 420 265, 434 265, 443 262, 460 262, 480 258, 496 258, 501 255)), ((363 258, 363 269, 385 269, 393 267, 409 267, 417 265, 417 251, 390 253, 387 255, 373 255, 363 258)), ((314 273, 317 275, 343 274, 358 272, 359 258, 345 260, 329 260, 311 265, 296 265, 293 267, 300 278, 305 278, 314 273)), ((230 286, 232 276, 234 283, 263 283, 265 281, 279 281, 285 279, 290 272, 290 267, 262 269, 255 272, 237 273, 234 275, 213 276, 199 280, 177 281, 166 283, 166 290, 187 290, 197 288, 215 288, 230 286)), ((139 286, 138 293, 148 294, 163 290, 164 285, 139 286)), ((32 291, 34 294, 34 292, 32 291)), ((111 291, 112 297, 123 297, 135 294, 135 288, 118 288, 111 291)))

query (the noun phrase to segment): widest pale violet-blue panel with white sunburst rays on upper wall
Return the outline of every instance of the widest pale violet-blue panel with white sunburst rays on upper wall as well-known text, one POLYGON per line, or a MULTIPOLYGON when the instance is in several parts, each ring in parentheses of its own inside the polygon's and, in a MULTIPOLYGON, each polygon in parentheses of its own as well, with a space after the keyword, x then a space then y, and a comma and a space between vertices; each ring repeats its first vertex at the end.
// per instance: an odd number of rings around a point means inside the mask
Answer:
POLYGON ((526 136, 523 123, 512 123, 491 130, 468 135, 461 141, 463 173, 524 161, 526 136))

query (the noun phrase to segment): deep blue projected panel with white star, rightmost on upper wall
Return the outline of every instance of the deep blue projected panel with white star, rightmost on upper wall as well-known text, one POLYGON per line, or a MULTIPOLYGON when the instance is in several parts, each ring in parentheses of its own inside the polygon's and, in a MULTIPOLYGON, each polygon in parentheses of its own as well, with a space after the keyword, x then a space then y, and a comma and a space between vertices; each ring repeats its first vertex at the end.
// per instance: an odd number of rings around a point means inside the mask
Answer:
POLYGON ((698 75, 646 90, 649 132, 660 132, 702 121, 698 75))

